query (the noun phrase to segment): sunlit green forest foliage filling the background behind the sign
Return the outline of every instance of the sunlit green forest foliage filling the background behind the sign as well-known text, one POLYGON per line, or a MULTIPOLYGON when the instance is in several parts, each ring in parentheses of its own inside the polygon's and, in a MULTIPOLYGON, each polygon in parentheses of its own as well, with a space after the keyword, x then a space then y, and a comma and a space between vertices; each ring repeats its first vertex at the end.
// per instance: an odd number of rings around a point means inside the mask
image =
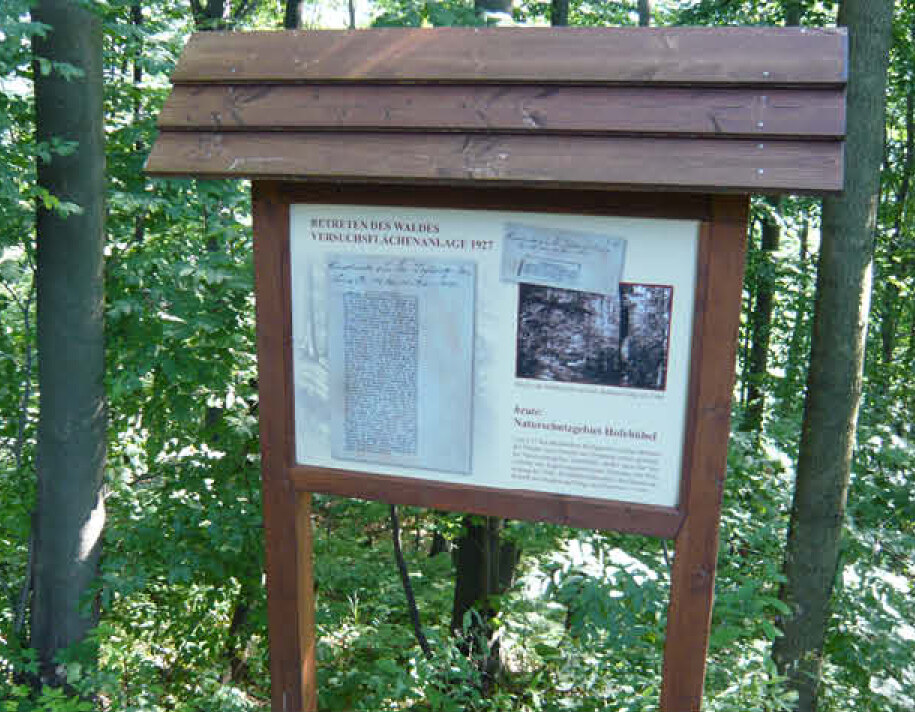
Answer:
MULTIPOLYGON (((178 0, 95 2, 106 30, 108 138, 107 386, 111 423, 98 629, 69 651, 69 690, 28 685, 30 518, 37 418, 34 205, 60 204, 35 183, 37 157, 72 150, 33 138, 29 39, 46 28, 28 0, 0 5, 0 710, 260 710, 269 677, 257 443, 248 186, 149 180, 142 173, 167 78, 192 30, 178 0), (139 14, 135 11, 139 8, 139 14), (97 664, 93 662, 97 656, 97 664)), ((317 3, 306 7, 317 17, 317 3)), ((323 8, 325 11, 326 7, 323 8)), ((519 21, 545 22, 525 0, 519 21)), ((833 21, 833 3, 804 21, 833 21)), ((466 2, 379 0, 376 24, 471 24, 466 2)), ((311 13, 311 14, 309 14, 311 13)), ((327 14, 327 13, 325 13, 327 14)), ((783 3, 666 3, 659 23, 767 24, 783 3)), ((245 28, 278 27, 256 5, 245 28)), ((823 709, 915 707, 915 242, 912 173, 915 7, 897 3, 888 139, 861 416, 844 549, 827 642, 823 709)), ((572 24, 634 24, 635 3, 573 2, 572 24)), ((780 710, 790 695, 770 659, 809 350, 818 206, 754 202, 737 413, 746 405, 756 277, 775 280, 767 410, 761 432, 735 429, 707 680, 709 710, 780 710), (761 222, 782 231, 774 259, 761 222)), ((758 376, 754 376, 758 377, 758 376)), ((662 542, 511 523, 523 557, 496 619, 505 668, 496 684, 449 630, 453 564, 429 556, 460 518, 401 512, 426 633, 415 645, 394 565, 387 508, 317 497, 321 708, 327 710, 649 710, 657 704, 669 556, 662 542)), ((469 622, 469 621, 468 621, 469 622)))

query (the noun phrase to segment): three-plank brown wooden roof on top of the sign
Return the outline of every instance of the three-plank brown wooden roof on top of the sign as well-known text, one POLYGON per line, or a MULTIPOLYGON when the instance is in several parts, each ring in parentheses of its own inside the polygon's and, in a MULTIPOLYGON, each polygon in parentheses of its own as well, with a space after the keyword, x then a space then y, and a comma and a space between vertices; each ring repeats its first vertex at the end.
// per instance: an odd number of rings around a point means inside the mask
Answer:
POLYGON ((833 192, 846 77, 842 29, 205 32, 147 171, 833 192))

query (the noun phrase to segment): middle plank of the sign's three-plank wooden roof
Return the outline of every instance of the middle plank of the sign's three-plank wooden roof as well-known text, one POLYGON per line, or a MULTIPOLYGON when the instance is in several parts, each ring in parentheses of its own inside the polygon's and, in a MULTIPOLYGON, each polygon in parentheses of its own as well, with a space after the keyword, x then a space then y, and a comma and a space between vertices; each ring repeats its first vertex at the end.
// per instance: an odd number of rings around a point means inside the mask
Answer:
POLYGON ((816 87, 179 85, 159 127, 838 139, 844 109, 841 88, 816 87))

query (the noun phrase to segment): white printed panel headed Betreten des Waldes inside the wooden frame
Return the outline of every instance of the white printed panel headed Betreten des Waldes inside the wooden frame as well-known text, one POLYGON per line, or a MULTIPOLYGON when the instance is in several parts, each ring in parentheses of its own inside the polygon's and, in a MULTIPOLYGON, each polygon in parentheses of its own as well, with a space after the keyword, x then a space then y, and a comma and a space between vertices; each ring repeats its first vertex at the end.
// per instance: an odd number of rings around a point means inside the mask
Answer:
POLYGON ((697 222, 290 219, 299 464, 676 506, 697 222))

